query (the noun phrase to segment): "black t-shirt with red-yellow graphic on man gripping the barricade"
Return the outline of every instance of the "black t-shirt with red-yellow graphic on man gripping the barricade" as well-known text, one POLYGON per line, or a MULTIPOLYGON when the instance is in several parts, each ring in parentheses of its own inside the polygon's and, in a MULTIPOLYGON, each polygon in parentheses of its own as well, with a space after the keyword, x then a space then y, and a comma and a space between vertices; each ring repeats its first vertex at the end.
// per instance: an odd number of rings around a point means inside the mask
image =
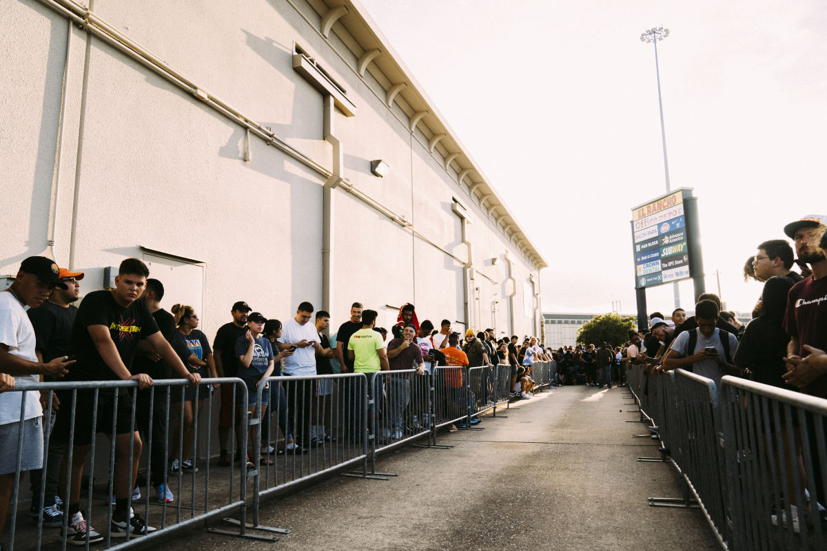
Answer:
POLYGON ((111 381, 117 379, 103 361, 89 335, 91 325, 105 325, 118 355, 127 369, 138 349, 138 341, 158 332, 158 325, 146 302, 134 301, 124 308, 107 290, 90 292, 80 303, 72 327, 72 346, 77 363, 69 366, 67 381, 111 381))

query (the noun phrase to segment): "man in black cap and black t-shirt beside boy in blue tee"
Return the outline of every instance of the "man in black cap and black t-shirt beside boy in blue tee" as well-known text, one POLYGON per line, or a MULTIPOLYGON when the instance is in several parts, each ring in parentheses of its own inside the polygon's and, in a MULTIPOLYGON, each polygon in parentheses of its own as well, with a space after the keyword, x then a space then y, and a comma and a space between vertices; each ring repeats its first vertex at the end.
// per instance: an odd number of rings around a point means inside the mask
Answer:
MULTIPOLYGON (((238 373, 238 358, 236 356, 236 341, 239 337, 246 335, 247 314, 251 307, 244 301, 238 301, 232 305, 229 321, 218 328, 213 340, 213 359, 218 377, 236 377, 238 373)), ((221 447, 221 455, 218 464, 222 467, 229 467, 232 463, 230 455, 227 454, 227 444, 230 441, 230 431, 236 425, 237 416, 241 415, 241 408, 236 407, 233 411, 232 403, 235 397, 235 387, 232 384, 221 386, 221 410, 218 412, 218 444, 221 447)), ((241 454, 238 454, 239 456, 241 454)))

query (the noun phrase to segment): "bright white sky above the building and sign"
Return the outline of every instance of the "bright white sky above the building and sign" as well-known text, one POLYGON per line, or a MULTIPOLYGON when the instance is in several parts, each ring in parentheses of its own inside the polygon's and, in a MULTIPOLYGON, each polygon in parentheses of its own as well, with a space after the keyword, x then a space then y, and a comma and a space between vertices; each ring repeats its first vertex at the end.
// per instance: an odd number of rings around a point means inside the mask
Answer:
MULTIPOLYGON (((699 197, 706 290, 751 311, 742 267, 827 213, 823 0, 361 0, 550 265, 543 311, 634 313, 631 208, 699 197)), ((671 312, 672 284, 648 290, 671 312)), ((691 280, 681 306, 692 308, 691 280)), ((667 312, 668 311, 668 312, 667 312)))

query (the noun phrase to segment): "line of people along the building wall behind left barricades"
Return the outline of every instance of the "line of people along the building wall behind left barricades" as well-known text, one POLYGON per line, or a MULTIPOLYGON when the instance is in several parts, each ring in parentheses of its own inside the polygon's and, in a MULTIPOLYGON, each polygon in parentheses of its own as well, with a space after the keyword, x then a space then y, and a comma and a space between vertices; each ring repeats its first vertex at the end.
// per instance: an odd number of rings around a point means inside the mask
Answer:
MULTIPOLYGON (((376 423, 370 428, 380 441, 390 442, 426 425, 428 404, 417 393, 423 378, 412 375, 443 367, 437 386, 445 393, 445 403, 436 406, 456 406, 467 400, 462 374, 453 373, 461 372, 457 368, 503 363, 510 366, 511 396, 528 399, 533 389, 532 364, 552 359, 535 337, 519 344, 517 335, 496 340, 491 329, 466 330, 461 335, 449 320, 442 320, 438 329, 432 321, 420 323, 413 304, 400 308, 389 334, 376 326, 377 312, 364 309, 359 302, 351 305, 349 319, 330 331, 330 314, 314 311, 309 302, 301 302, 294 316, 280 321, 238 301, 211 341, 198 328, 198 311, 193 306, 174 304, 170 311, 161 306, 164 285, 149 275, 141 260, 126 259, 112 289, 89 292, 74 306, 84 273, 59 268, 45 257, 30 257, 22 262, 7 292, 0 293, 0 534, 20 449, 19 468, 30 473, 31 518, 44 527, 65 523, 67 544, 104 539, 84 519, 81 480, 95 433, 111 433, 113 418, 114 495, 109 534, 140 536, 155 530, 130 506, 131 499, 140 496, 136 477, 141 450, 151 438, 147 477, 156 501, 173 502, 175 496, 165 484, 166 470, 197 470, 194 427, 205 399, 213 392, 213 385, 200 384, 202 378, 241 378, 244 382, 243 386, 222 383, 214 389, 220 392, 218 465, 231 464, 232 442, 238 443, 239 435, 249 430, 247 449, 236 449, 235 457, 253 468, 255 463, 272 464, 270 454, 304 454, 337 439, 329 415, 332 379, 319 375, 392 372, 389 377, 375 378, 375 387, 369 387, 373 393, 370 422, 376 423), (268 384, 272 376, 313 378, 295 379, 289 386, 286 382, 268 384), (169 378, 189 381, 166 391, 173 415, 164 409, 164 396, 151 391, 155 380, 169 378), (114 380, 138 383, 134 426, 128 388, 98 392, 96 404, 98 383, 114 380), (6 392, 17 382, 38 381, 76 382, 78 389, 6 392), (383 389, 383 384, 388 387, 383 389), (387 397, 384 401, 383 396, 387 397), (261 442, 246 423, 246 412, 238 408, 242 403, 254 418, 261 414, 261 442), (267 437, 271 434, 268 408, 277 412, 275 419, 283 436, 279 449, 267 437), (381 422, 377 421, 380 417, 381 422), (181 425, 180 457, 178 446, 168 446, 167 419, 181 425), (21 425, 24 436, 19 439, 21 425), (45 464, 44 431, 50 433, 45 464), (68 495, 61 496, 67 480, 68 495)), ((353 380, 339 379, 339 384, 348 392, 353 380)), ((476 382, 480 398, 490 398, 491 385, 490 380, 476 382)), ((362 436, 354 427, 361 426, 361 420, 357 411, 352 414, 344 436, 358 439, 362 436)), ((478 422, 476 418, 460 420, 449 430, 478 422)))

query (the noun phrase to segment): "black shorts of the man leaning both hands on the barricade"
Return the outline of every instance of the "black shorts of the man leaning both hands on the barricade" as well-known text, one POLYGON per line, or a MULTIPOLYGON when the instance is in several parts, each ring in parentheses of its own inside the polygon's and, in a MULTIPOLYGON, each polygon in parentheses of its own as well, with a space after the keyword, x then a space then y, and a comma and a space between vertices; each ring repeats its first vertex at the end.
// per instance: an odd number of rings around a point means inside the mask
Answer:
MULTIPOLYGON (((127 435, 138 430, 135 423, 132 428, 132 391, 133 388, 102 388, 98 391, 98 408, 95 411, 94 391, 79 390, 77 405, 74 409, 74 445, 91 444, 94 433, 103 432, 112 434, 112 414, 115 407, 115 393, 117 392, 117 417, 115 419, 115 434, 127 435), (96 415, 97 414, 97 415, 96 415), (93 420, 96 420, 94 430, 93 420)), ((69 443, 69 429, 72 423, 72 391, 58 392, 60 410, 57 412, 55 428, 52 435, 58 442, 69 443)))

